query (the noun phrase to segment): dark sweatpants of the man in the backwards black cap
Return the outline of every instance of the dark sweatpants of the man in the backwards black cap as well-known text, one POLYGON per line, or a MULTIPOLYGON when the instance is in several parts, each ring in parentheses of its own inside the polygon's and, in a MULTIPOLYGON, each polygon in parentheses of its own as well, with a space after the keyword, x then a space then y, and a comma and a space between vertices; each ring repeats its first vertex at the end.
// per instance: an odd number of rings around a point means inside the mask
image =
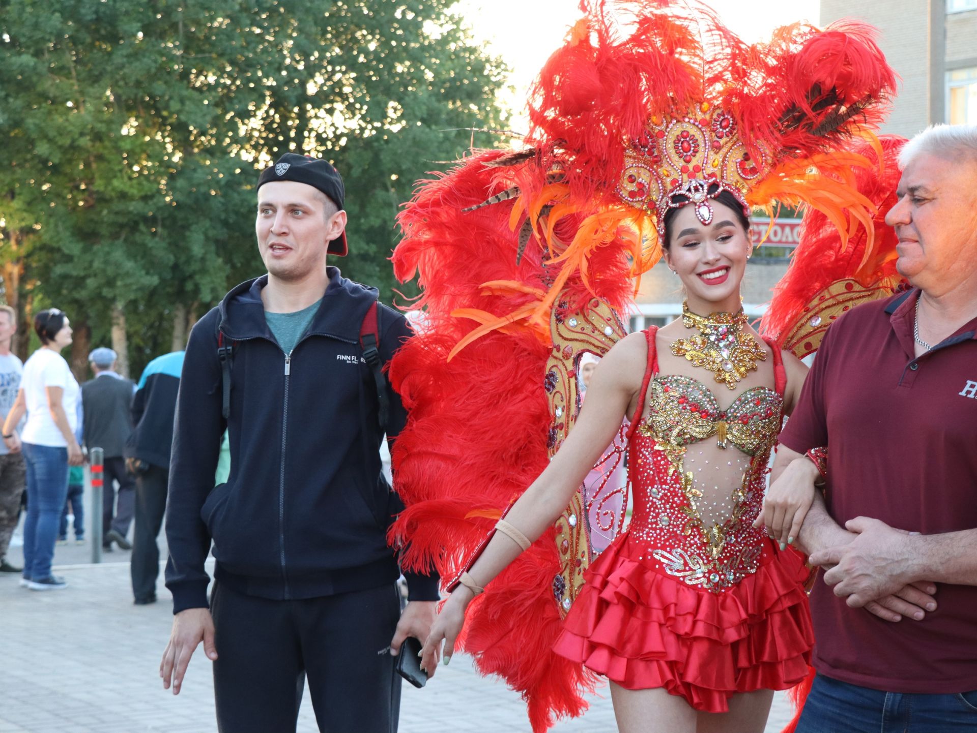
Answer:
POLYGON ((401 602, 394 584, 269 600, 218 581, 210 607, 221 733, 292 733, 306 676, 322 733, 396 733, 401 676, 389 647, 401 602))

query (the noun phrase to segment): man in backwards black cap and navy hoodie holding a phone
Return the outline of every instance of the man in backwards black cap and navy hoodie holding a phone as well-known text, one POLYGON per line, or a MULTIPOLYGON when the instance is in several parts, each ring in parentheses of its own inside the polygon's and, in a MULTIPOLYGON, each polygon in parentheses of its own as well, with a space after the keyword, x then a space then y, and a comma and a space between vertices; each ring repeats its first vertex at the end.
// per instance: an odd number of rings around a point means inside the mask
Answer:
MULTIPOLYGON (((324 160, 286 153, 264 171, 255 229, 268 274, 234 288, 187 346, 166 518, 175 617, 160 675, 179 693, 202 641, 221 731, 295 730, 307 675, 320 729, 396 731, 394 656, 435 617, 433 575, 406 575, 401 614, 386 531, 403 505, 381 471, 381 400, 361 346, 377 291, 325 264, 347 252, 343 200, 324 160), (225 428, 231 474, 215 488, 225 428)), ((386 363, 410 332, 396 311, 376 310, 386 363)), ((382 388, 394 440, 404 407, 382 388)))

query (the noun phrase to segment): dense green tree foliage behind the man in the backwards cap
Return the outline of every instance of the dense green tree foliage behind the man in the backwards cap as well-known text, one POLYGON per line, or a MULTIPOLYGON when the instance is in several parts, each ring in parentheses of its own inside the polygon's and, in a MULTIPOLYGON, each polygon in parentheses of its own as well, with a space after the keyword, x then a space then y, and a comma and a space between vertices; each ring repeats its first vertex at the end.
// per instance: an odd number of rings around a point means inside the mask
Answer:
POLYGON ((352 254, 337 264, 389 300, 394 217, 414 180, 463 153, 466 128, 500 122, 500 64, 451 5, 6 0, 8 302, 25 316, 62 307, 79 350, 107 342, 114 308, 138 373, 264 270, 254 183, 289 150, 343 175, 352 254))

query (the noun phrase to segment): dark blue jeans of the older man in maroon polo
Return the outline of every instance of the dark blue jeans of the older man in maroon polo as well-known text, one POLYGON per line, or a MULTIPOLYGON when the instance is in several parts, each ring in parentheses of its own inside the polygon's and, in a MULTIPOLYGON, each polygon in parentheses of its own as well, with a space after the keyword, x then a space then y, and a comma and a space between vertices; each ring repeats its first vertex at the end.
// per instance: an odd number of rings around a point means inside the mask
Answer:
POLYGON ((882 692, 818 674, 796 733, 964 733, 977 730, 977 690, 882 692))

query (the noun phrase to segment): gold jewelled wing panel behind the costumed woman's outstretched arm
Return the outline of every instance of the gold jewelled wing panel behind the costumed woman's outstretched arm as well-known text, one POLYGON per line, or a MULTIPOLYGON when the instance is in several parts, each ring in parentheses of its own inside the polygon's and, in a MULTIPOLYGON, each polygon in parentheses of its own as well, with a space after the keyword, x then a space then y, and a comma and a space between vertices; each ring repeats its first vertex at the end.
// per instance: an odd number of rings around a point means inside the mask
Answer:
MULTIPOLYGON (((604 356, 624 337, 625 331, 616 312, 596 299, 576 311, 568 311, 566 304, 553 308, 550 330, 553 351, 546 363, 543 384, 549 397, 551 419, 547 449, 549 457, 553 458, 573 428, 579 411, 577 368, 580 357, 588 352, 604 356)), ((622 507, 627 506, 626 487, 624 491, 622 507)), ((623 524, 624 510, 621 509, 619 514, 614 522, 617 531, 623 524)), ((583 572, 594 557, 587 525, 586 497, 581 486, 555 524, 561 567, 553 579, 553 595, 561 616, 570 611, 583 585, 583 572)))

